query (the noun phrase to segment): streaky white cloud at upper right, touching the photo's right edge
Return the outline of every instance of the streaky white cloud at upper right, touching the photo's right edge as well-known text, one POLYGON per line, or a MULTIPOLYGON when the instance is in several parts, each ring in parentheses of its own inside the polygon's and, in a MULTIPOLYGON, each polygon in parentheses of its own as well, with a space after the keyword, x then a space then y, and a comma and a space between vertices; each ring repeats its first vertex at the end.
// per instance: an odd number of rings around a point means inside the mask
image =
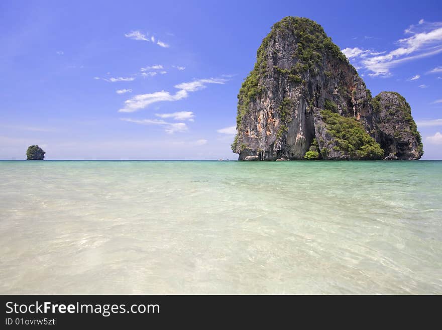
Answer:
POLYGON ((365 68, 370 76, 389 76, 392 68, 404 62, 442 52, 442 22, 421 20, 405 29, 405 34, 411 36, 396 41, 397 47, 392 51, 376 52, 357 47, 342 51, 354 65, 365 68))

